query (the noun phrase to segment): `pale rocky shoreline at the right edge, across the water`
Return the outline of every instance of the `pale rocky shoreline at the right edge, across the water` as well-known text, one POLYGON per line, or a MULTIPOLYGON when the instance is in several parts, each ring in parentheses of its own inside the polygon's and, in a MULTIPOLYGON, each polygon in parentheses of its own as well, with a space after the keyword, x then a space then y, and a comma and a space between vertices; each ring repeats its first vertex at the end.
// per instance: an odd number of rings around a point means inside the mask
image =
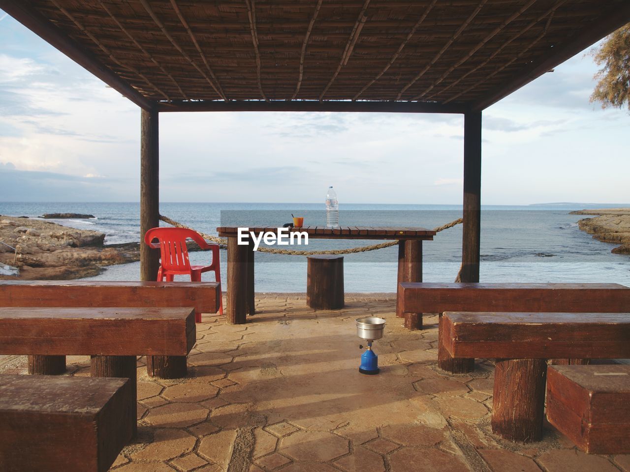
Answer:
POLYGON ((572 215, 593 215, 578 221, 582 231, 602 242, 620 244, 612 249, 616 254, 630 254, 630 208, 571 211, 572 215))

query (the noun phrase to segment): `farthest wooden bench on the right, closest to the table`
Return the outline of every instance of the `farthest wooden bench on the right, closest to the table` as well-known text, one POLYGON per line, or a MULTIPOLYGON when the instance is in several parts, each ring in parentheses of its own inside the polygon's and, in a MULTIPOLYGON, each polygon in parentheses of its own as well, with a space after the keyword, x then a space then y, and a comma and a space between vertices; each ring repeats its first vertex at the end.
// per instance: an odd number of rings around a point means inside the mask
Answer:
MULTIPOLYGON (((619 284, 401 283, 399 297, 404 312, 440 313, 440 330, 443 312, 630 312, 630 288, 619 284)), ((440 340, 438 366, 467 373, 474 359, 450 357, 440 340)))

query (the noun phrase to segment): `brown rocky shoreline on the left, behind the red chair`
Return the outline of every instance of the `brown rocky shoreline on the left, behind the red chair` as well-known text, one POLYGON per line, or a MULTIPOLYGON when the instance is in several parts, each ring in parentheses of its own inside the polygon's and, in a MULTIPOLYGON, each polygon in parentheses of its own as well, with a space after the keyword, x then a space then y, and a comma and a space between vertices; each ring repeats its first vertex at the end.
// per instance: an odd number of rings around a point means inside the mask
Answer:
MULTIPOLYGON (((0 262, 17 267, 18 279, 79 279, 98 275, 105 266, 140 259, 139 243, 105 244, 105 233, 38 218, 0 215, 0 241, 4 243, 0 262)), ((0 279, 15 278, 0 275, 0 279)))

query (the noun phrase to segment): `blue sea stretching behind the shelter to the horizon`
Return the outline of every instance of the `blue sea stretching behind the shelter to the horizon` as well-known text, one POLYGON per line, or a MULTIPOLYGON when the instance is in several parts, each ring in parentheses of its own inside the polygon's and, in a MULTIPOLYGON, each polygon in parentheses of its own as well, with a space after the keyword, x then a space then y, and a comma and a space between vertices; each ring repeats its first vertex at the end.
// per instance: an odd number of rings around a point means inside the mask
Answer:
MULTIPOLYGON (((591 205, 604 208, 606 205, 591 205)), ((616 206, 616 205, 612 205, 616 206)), ((630 256, 612 254, 614 244, 600 242, 578 228, 585 215, 572 210, 587 205, 559 203, 529 206, 482 206, 482 282, 619 283, 630 286, 630 256)), ((1 203, 0 215, 37 217, 43 213, 86 213, 89 219, 52 220, 69 227, 105 233, 106 244, 138 242, 138 203, 1 203)), ((160 203, 160 213, 195 230, 217 234, 219 226, 273 225, 304 216, 305 225, 323 225, 324 205, 312 203, 160 203)), ((435 228, 461 217, 461 205, 340 204, 340 225, 435 228)), ((162 223, 165 226, 165 223, 162 223)), ((311 239, 289 249, 346 249, 374 240, 311 239)), ((423 281, 452 282, 461 264, 462 226, 439 232, 423 242, 423 281)), ((282 247, 282 249, 285 249, 282 247)), ((193 264, 207 264, 209 253, 192 252, 193 264)), ((346 292, 395 292, 398 248, 344 256, 346 292)), ((306 257, 256 253, 258 292, 306 291, 306 257)), ((221 251, 226 287, 226 251, 221 251)), ((103 267, 91 280, 138 280, 139 262, 103 267)), ((212 280, 212 273, 203 274, 212 280)))

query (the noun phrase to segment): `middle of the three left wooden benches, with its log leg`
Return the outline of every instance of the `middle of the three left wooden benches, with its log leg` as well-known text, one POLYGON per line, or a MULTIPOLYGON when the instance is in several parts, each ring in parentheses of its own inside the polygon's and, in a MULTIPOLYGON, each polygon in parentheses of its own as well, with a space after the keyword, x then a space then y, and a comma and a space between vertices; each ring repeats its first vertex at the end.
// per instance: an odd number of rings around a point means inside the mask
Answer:
POLYGON ((185 359, 195 340, 193 308, 0 308, 0 354, 91 356, 92 376, 131 380, 134 412, 136 356, 185 359))

